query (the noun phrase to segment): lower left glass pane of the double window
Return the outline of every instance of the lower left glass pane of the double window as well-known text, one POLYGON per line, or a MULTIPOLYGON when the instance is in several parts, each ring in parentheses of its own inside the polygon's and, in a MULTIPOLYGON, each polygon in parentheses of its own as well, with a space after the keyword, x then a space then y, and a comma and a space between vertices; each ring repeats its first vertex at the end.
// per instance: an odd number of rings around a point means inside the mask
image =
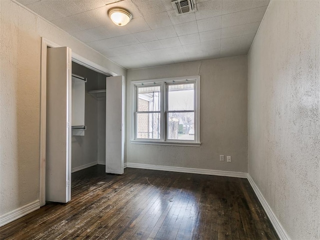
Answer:
POLYGON ((136 138, 160 139, 160 113, 137 113, 136 138))

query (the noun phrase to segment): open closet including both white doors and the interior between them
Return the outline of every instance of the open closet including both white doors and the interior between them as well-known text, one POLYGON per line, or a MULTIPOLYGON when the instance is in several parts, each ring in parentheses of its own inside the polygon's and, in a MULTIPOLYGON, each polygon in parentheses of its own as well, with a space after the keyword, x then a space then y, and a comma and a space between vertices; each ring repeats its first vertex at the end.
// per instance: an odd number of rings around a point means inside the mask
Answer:
POLYGON ((45 107, 41 108, 45 125, 41 127, 45 134, 42 192, 47 201, 71 199, 71 171, 105 164, 106 173, 123 173, 124 78, 106 76, 100 72, 107 71, 79 58, 71 61, 68 47, 46 49, 45 107))

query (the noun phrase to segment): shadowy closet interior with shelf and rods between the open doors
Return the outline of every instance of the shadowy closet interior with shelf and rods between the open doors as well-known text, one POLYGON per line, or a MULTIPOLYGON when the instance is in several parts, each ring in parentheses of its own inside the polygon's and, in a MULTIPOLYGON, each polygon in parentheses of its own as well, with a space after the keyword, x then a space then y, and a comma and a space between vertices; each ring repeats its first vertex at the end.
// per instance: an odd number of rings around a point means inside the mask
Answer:
POLYGON ((105 78, 72 61, 71 172, 105 164, 105 78))

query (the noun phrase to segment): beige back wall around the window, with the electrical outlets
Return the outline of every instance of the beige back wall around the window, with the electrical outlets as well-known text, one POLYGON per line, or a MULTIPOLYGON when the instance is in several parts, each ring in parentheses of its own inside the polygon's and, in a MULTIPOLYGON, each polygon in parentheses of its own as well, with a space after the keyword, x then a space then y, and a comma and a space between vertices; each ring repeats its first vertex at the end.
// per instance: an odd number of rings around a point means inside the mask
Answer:
POLYGON ((128 70, 127 79, 127 162, 247 172, 246 56, 128 70), (131 81, 190 75, 201 76, 201 146, 130 143, 131 81))

